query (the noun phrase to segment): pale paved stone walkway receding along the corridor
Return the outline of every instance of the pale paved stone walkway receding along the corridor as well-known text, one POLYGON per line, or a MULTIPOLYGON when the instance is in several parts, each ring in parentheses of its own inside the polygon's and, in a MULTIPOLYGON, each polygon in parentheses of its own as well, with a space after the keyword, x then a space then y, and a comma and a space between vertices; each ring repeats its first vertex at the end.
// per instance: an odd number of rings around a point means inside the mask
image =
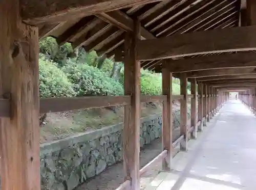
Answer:
POLYGON ((145 190, 255 190, 256 117, 239 100, 228 101, 173 171, 161 172, 145 190))

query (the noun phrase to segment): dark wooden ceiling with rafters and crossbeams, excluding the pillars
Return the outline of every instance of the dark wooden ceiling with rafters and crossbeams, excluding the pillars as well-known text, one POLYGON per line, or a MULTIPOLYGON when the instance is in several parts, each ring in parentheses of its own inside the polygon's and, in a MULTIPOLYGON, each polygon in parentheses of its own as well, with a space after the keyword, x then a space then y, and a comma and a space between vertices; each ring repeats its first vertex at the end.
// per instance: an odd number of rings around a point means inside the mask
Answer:
POLYGON ((203 83, 256 77, 252 0, 247 0, 249 7, 245 0, 102 0, 90 6, 76 0, 71 7, 61 0, 46 0, 34 5, 42 13, 33 8, 35 1, 26 1, 31 6, 22 9, 24 21, 39 27, 40 38, 52 36, 59 45, 70 42, 74 48, 123 61, 124 34, 133 31, 136 18, 141 23, 137 56, 141 68, 161 72, 164 66, 175 77, 186 72, 188 78, 203 83), (52 1, 54 6, 48 10, 52 1))

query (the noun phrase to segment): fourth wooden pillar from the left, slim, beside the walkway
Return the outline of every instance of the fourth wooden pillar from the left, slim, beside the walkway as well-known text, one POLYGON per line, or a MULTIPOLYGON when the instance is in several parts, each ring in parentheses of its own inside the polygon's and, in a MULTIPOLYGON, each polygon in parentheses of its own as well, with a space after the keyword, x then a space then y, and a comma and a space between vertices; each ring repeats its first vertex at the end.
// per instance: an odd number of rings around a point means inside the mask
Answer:
POLYGON ((187 78, 186 73, 181 73, 180 77, 180 94, 184 98, 180 101, 180 133, 184 135, 184 140, 181 142, 180 149, 187 150, 187 78))

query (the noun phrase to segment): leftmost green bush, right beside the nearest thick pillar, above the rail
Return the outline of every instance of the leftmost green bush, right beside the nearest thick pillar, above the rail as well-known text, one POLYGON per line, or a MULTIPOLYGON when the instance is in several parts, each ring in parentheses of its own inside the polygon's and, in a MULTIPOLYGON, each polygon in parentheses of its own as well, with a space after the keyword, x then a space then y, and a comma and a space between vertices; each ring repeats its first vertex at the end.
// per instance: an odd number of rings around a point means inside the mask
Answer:
POLYGON ((42 55, 39 58, 39 92, 42 98, 76 95, 66 74, 42 55))

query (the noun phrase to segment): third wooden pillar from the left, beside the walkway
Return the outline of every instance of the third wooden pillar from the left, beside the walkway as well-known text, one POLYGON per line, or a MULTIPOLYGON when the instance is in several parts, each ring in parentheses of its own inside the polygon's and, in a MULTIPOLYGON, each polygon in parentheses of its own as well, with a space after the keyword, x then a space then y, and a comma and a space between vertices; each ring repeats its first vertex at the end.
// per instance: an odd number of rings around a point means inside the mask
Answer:
POLYGON ((162 107, 162 149, 168 151, 168 155, 163 159, 163 170, 170 170, 172 163, 172 142, 173 142, 173 103, 172 85, 173 74, 168 69, 162 69, 162 94, 166 95, 167 101, 163 101, 162 107))

